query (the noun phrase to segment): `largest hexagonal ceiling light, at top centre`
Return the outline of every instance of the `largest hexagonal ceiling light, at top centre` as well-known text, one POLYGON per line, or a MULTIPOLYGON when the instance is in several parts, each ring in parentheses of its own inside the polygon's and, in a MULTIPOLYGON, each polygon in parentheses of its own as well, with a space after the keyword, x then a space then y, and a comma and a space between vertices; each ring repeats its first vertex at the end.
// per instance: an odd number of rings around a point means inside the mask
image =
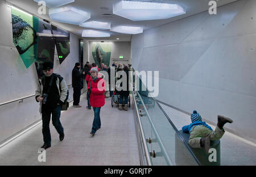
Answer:
POLYGON ((185 10, 174 3, 120 1, 113 4, 113 14, 133 21, 159 20, 185 14, 185 10))

